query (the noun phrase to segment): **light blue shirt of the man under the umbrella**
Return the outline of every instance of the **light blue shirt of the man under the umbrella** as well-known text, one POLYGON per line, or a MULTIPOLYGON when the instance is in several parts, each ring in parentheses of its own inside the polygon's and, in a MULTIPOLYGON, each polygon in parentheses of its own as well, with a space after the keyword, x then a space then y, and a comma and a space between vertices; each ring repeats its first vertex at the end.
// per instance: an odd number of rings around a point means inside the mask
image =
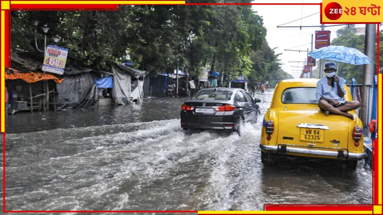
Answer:
MULTIPOLYGON (((346 94, 346 90, 344 89, 345 81, 343 78, 339 78, 339 85, 344 94, 346 94)), ((321 80, 316 83, 316 100, 319 101, 321 97, 327 98, 327 99, 335 99, 339 101, 340 103, 345 103, 344 98, 340 98, 338 96, 338 88, 337 87, 331 87, 327 84, 327 77, 323 77, 321 80)))

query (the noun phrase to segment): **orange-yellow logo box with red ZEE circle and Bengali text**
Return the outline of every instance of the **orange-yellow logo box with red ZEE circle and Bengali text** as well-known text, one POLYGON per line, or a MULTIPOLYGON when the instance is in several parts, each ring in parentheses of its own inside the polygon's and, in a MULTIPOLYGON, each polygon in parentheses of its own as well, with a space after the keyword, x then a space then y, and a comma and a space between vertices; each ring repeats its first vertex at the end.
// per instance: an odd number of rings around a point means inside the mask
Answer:
POLYGON ((383 22, 382 0, 323 0, 321 24, 366 24, 383 22))

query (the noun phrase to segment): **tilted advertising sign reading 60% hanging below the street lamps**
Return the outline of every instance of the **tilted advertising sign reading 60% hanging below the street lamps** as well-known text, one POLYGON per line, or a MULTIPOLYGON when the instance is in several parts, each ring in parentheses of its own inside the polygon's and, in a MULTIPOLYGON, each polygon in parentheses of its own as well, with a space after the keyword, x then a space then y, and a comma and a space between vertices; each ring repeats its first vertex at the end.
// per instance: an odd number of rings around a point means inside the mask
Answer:
POLYGON ((45 50, 43 71, 62 75, 67 61, 68 49, 48 45, 45 50))

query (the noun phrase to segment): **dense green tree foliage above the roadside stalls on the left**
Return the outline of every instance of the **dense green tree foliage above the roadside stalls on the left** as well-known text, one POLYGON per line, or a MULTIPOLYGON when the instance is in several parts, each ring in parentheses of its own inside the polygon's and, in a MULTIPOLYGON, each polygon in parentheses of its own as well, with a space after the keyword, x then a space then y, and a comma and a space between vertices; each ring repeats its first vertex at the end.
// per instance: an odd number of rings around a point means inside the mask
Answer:
MULTIPOLYGON (((190 3, 201 3, 190 0, 190 3)), ((232 0, 214 0, 232 3, 232 0)), ((251 2, 246 0, 245 2, 251 2)), ((277 55, 265 41, 262 18, 251 5, 124 5, 119 11, 11 11, 11 51, 43 58, 41 26, 47 43, 69 49, 69 62, 108 68, 129 55, 134 67, 152 74, 173 72, 178 65, 198 77, 205 68, 225 78, 244 75, 262 82, 284 78, 277 55), (281 73, 282 72, 282 73, 281 73)))

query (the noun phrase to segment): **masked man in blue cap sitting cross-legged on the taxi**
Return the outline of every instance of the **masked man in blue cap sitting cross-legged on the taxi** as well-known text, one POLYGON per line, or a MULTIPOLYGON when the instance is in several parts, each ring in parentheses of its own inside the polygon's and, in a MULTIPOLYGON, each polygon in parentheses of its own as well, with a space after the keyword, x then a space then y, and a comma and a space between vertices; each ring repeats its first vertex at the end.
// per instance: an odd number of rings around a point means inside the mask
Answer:
POLYGON ((335 76, 336 67, 334 62, 327 62, 324 65, 326 76, 316 84, 316 100, 319 108, 324 111, 324 115, 329 113, 339 114, 350 119, 354 119, 354 115, 347 111, 355 110, 360 107, 358 101, 345 101, 344 89, 345 81, 343 78, 335 76))

